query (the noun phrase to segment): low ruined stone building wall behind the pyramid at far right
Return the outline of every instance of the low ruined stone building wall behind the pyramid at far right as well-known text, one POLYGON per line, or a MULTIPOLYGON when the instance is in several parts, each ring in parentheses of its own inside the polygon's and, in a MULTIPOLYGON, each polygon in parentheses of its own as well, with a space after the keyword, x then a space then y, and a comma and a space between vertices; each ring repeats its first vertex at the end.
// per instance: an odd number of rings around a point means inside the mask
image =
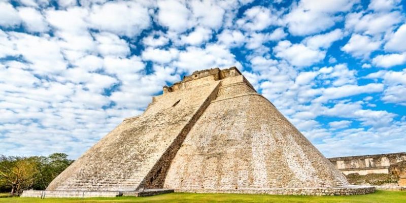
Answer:
POLYGON ((388 174, 390 165, 406 161, 406 153, 335 157, 329 158, 329 160, 346 175, 353 173, 359 175, 388 174))

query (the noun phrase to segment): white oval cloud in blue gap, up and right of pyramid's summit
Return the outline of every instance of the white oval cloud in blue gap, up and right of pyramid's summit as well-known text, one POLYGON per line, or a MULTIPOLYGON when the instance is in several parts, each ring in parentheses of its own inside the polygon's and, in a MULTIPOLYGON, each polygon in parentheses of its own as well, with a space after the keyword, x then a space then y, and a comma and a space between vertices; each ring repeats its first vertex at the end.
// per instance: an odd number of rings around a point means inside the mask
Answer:
POLYGON ((326 52, 314 50, 303 44, 292 44, 285 40, 274 47, 275 56, 289 61, 295 66, 309 66, 324 59, 326 52))

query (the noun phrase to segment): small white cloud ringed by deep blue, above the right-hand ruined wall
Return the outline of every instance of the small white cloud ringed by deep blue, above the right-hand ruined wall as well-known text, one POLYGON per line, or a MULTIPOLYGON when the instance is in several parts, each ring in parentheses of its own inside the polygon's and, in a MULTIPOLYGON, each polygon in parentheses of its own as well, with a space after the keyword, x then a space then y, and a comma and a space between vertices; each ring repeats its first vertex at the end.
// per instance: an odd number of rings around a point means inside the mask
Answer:
POLYGON ((368 36, 353 34, 341 50, 351 54, 354 57, 369 57, 369 54, 381 46, 380 41, 373 41, 368 36))

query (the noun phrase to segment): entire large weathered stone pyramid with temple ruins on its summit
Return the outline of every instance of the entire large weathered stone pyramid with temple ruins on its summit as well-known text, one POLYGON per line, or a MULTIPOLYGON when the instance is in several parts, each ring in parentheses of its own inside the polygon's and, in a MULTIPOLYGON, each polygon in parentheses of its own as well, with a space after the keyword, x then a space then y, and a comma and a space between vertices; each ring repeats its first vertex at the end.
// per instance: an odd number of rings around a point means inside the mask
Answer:
MULTIPOLYGON (((142 115, 124 119, 45 193, 103 196, 148 189, 296 195, 375 191, 350 186, 235 67, 197 71, 164 86, 142 115)), ((29 193, 35 192, 22 196, 29 193)))

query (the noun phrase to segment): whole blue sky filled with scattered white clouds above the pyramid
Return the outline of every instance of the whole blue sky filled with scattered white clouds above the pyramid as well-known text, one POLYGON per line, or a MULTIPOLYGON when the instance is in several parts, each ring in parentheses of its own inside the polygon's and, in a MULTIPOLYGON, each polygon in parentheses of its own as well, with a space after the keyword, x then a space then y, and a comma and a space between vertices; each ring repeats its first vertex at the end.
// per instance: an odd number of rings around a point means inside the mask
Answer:
POLYGON ((405 7, 0 0, 0 154, 77 158, 163 85, 230 66, 327 157, 404 152, 405 7))

